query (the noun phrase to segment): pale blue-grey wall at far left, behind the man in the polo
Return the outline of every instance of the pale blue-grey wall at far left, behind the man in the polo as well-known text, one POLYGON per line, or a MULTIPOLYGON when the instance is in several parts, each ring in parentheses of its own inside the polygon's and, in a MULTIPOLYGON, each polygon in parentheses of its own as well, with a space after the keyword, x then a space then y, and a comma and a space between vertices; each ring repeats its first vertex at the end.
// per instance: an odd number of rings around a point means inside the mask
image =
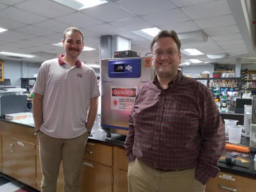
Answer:
POLYGON ((20 78, 34 77, 41 63, 4 60, 4 78, 11 79, 12 85, 20 86, 20 78))

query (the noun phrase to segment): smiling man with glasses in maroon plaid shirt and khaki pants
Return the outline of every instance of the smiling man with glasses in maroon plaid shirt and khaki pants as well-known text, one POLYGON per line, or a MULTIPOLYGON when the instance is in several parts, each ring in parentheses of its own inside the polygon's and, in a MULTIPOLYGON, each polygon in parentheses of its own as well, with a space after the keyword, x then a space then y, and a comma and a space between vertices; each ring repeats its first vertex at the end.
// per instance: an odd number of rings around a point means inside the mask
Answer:
POLYGON ((211 92, 178 70, 181 43, 162 30, 151 42, 156 76, 143 85, 125 141, 129 192, 204 191, 218 172, 225 130, 211 92))

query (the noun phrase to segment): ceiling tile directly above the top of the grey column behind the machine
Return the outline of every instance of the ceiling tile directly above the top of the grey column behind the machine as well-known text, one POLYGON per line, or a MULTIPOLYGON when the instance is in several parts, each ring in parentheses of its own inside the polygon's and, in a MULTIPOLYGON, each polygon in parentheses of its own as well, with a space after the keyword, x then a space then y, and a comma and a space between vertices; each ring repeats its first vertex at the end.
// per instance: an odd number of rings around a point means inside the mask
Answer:
POLYGON ((103 23, 98 26, 92 26, 87 29, 87 31, 90 31, 92 33, 97 33, 99 36, 102 35, 116 35, 117 33, 123 32, 123 30, 120 30, 116 28, 113 25, 110 25, 108 23, 103 23))

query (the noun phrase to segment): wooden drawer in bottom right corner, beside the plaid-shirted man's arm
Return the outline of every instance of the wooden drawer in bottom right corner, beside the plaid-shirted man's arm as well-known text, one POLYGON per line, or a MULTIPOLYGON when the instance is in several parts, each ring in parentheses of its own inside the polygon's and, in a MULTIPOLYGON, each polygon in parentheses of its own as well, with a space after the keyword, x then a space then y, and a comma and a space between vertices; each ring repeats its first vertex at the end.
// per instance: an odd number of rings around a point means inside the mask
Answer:
POLYGON ((231 173, 219 172, 216 178, 211 178, 206 185, 206 192, 239 191, 248 192, 256 189, 256 180, 241 177, 231 173))

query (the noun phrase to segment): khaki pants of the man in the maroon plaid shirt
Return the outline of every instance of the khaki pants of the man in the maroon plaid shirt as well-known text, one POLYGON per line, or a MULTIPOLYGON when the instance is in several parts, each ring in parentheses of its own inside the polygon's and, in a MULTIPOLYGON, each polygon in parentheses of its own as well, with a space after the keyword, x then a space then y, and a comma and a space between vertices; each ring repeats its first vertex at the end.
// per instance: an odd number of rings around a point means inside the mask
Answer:
POLYGON ((164 172, 135 158, 128 166, 129 192, 203 192, 205 186, 195 179, 195 168, 164 172))

